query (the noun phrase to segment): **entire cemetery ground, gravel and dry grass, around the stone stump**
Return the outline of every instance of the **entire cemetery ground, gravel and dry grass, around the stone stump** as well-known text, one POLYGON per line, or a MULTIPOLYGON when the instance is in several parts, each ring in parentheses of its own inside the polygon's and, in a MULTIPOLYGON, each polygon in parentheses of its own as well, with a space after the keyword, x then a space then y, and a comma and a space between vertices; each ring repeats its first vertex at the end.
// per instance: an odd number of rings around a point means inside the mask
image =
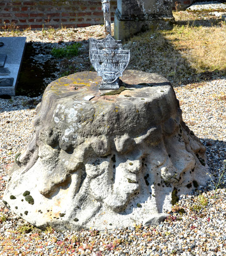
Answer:
MULTIPOLYGON (((132 56, 128 68, 159 73, 172 83, 183 110, 183 120, 206 146, 212 171, 207 175, 211 175, 214 182, 210 180, 206 188, 196 184, 196 191, 179 197, 169 217, 158 226, 144 227, 134 223, 130 227, 111 230, 106 223, 105 232, 96 230, 95 223, 90 230, 81 232, 61 232, 51 227, 42 231, 1 204, 1 255, 226 254, 226 23, 207 13, 175 12, 174 16, 176 24, 172 30, 146 32, 125 42, 124 46, 131 50, 132 56)), ((17 150, 26 145, 33 132, 35 106, 41 100, 44 87, 59 76, 93 71, 87 40, 89 37, 103 38, 103 26, 57 31, 51 28, 18 31, 12 26, 0 35, 27 36, 35 63, 29 67, 34 75, 27 81, 29 69, 22 66, 21 70, 21 81, 27 82, 29 93, 19 81, 18 96, 0 99, 2 196, 7 184, 7 170, 13 164, 17 150), (52 57, 53 48, 66 47, 73 41, 81 44, 77 56, 52 57), (43 63, 46 66, 43 67, 43 63), (48 65, 56 69, 41 80, 43 72, 50 71, 48 65), (40 72, 36 73, 35 66, 40 72), (30 80, 33 77, 35 79, 30 80), (36 80, 41 89, 35 89, 33 94, 36 80)))

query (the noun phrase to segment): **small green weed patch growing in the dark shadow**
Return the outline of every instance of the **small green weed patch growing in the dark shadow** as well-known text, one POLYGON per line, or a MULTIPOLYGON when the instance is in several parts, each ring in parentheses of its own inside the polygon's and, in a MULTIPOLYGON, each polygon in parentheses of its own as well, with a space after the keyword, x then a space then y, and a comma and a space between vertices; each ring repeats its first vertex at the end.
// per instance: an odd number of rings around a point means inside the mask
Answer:
POLYGON ((66 47, 61 48, 53 48, 51 54, 55 58, 72 58, 73 56, 77 56, 79 53, 79 48, 81 47, 80 43, 74 43, 67 45, 66 47))

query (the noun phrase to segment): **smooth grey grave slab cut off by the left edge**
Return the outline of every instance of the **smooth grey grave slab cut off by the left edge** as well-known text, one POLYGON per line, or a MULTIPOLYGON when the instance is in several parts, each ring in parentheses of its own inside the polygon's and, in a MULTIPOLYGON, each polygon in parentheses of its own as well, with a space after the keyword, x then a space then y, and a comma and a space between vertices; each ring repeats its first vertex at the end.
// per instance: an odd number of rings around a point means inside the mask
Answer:
POLYGON ((23 58, 26 37, 0 37, 0 95, 15 96, 17 79, 23 58), (3 63, 4 56, 7 55, 3 63))

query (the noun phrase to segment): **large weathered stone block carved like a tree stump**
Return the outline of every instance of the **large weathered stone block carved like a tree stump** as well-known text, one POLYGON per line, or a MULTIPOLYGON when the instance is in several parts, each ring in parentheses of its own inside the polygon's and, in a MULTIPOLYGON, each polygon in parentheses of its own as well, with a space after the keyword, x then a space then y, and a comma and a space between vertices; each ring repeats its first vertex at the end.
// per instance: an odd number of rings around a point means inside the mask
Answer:
POLYGON ((127 70, 110 93, 100 82, 96 72, 52 82, 35 134, 9 171, 4 204, 38 227, 157 224, 173 191, 206 183, 205 147, 183 123, 166 79, 127 70))

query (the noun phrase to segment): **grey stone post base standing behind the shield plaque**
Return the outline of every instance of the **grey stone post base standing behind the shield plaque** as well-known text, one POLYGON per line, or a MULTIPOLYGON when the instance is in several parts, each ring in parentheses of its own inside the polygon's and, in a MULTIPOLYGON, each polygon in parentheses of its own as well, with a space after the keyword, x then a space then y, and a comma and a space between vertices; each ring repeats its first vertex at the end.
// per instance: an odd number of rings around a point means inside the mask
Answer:
POLYGON ((118 0, 114 38, 123 41, 140 31, 171 27, 173 22, 172 0, 118 0))

